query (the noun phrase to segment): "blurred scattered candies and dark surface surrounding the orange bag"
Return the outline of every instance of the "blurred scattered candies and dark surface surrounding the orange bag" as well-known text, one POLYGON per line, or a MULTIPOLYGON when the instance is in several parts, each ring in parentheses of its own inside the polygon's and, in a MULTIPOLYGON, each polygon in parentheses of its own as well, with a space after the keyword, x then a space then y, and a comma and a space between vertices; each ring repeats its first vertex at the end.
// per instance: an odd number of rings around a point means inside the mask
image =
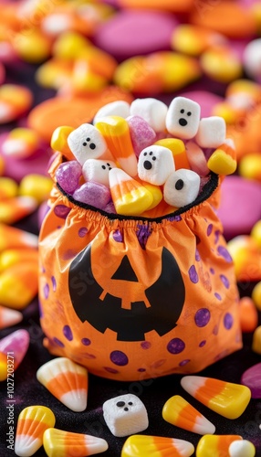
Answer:
MULTIPOLYGON (((57 127, 91 122, 117 100, 155 97, 169 105, 182 95, 201 105, 203 117, 224 118, 238 166, 224 178, 218 215, 235 261, 244 348, 204 375, 240 382, 261 361, 260 1, 2 0, 0 6, 0 337, 17 329, 30 336, 17 363, 15 424, 20 410, 40 402, 55 412, 59 428, 104 438, 104 455, 120 456, 124 440, 110 435, 101 406, 123 390, 147 402, 147 434, 196 446, 196 435, 177 436, 162 420, 162 405, 173 395, 164 379, 134 386, 90 377, 81 415, 37 384, 37 368, 49 359, 38 321, 37 235, 52 186, 50 140, 57 127)), ((170 378, 179 393, 179 377, 170 378)), ((6 399, 5 377, 0 388, 6 399)), ((207 417, 220 434, 242 434, 261 455, 260 411, 260 400, 252 399, 239 420, 207 417)), ((6 432, 5 411, 0 416, 6 432)), ((14 455, 5 438, 0 446, 1 455, 14 455)))

